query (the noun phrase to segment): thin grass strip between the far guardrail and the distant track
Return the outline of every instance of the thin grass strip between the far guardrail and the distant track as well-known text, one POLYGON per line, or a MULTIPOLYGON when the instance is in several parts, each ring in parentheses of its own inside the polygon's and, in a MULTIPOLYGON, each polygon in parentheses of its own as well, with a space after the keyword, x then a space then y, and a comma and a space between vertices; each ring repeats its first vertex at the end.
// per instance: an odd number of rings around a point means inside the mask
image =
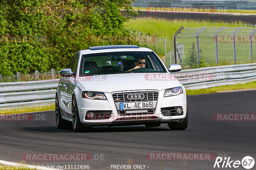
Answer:
MULTIPOLYGON (((163 10, 163 11, 177 11, 177 9, 172 9, 172 8, 157 8, 157 7, 133 7, 134 10, 163 10)), ((204 9, 204 8, 203 8, 204 9)), ((183 8, 180 11, 187 11, 187 9, 183 8)), ((191 11, 191 10, 190 10, 191 11)), ((206 11, 207 12, 207 11, 206 11)), ((228 10, 228 9, 210 9, 208 12, 225 12, 225 13, 250 13, 250 14, 255 14, 255 10, 228 10)))

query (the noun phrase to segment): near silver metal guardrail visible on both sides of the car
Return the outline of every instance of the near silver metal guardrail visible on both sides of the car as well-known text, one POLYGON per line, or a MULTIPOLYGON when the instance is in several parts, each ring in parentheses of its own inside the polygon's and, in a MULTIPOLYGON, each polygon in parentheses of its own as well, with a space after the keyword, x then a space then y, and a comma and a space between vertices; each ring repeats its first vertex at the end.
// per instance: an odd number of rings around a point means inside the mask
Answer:
MULTIPOLYGON (((256 63, 182 70, 174 75, 186 89, 256 81, 256 63)), ((59 80, 0 83, 0 110, 54 104, 59 80)))

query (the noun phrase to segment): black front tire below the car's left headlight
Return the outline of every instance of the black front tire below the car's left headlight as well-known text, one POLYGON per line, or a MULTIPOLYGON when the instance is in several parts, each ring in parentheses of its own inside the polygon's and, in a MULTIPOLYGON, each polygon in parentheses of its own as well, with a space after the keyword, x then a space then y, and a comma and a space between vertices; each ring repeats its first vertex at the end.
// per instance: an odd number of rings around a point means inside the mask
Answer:
POLYGON ((92 127, 85 127, 81 123, 75 96, 72 97, 71 110, 72 110, 72 125, 73 125, 72 127, 75 132, 85 132, 92 129, 92 127))

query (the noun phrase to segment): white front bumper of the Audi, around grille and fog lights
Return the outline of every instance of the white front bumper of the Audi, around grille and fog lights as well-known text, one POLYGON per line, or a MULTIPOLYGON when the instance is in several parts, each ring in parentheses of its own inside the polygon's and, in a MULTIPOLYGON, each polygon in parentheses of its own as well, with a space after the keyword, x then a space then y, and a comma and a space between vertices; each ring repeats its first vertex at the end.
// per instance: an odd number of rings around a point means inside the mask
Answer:
MULTIPOLYGON (((184 87, 183 87, 184 89, 184 87)), ((116 104, 112 98, 112 93, 104 93, 107 100, 92 100, 83 98, 82 103, 77 103, 79 109, 79 117, 81 123, 84 125, 132 125, 132 124, 146 124, 149 122, 159 122, 159 123, 179 123, 182 122, 186 117, 187 113, 187 99, 185 89, 182 94, 177 96, 164 97, 164 91, 158 91, 158 100, 156 103, 156 109, 154 114, 149 115, 133 115, 133 116, 120 116, 118 114, 116 104), (182 115, 177 116, 164 116, 161 112, 161 108, 167 107, 181 107, 183 110, 182 115), (111 117, 108 119, 98 119, 98 120, 87 120, 86 113, 89 111, 108 111, 111 113, 111 117)), ((125 91, 127 92, 127 91, 125 91)), ((115 92, 116 93, 116 92, 115 92)))

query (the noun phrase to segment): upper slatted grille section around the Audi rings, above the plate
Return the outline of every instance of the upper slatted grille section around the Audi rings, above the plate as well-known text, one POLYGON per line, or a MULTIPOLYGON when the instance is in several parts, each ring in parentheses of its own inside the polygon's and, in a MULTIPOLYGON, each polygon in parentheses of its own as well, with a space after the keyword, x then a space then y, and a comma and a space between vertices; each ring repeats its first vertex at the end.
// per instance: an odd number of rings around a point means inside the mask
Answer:
POLYGON ((124 93, 113 93, 112 97, 114 102, 138 102, 138 101, 154 101, 158 99, 158 92, 157 91, 136 91, 136 92, 124 92, 124 93), (144 99, 127 99, 128 94, 134 93, 142 93, 144 94, 144 99))

